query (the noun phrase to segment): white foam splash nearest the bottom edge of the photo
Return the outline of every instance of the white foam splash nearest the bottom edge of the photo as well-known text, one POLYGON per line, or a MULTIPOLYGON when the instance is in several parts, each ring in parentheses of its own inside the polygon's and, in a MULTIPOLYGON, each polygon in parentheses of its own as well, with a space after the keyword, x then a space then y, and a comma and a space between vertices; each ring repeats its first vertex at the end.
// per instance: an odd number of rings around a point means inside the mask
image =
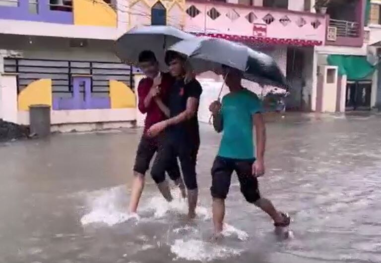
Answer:
POLYGON ((171 246, 171 252, 176 255, 177 259, 201 262, 216 259, 226 260, 229 257, 239 256, 242 251, 196 239, 188 241, 177 239, 171 246))

